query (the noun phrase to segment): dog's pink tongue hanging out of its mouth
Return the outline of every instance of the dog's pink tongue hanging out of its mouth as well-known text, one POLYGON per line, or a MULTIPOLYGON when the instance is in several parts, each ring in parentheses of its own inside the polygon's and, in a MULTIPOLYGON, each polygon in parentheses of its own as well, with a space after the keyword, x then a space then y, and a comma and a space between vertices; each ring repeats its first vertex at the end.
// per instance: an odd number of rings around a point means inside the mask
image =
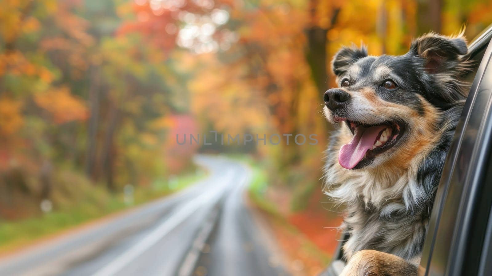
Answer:
POLYGON ((343 145, 338 153, 338 163, 345 169, 352 169, 372 149, 376 137, 386 125, 371 126, 369 128, 358 127, 355 129, 354 138, 350 143, 343 145))

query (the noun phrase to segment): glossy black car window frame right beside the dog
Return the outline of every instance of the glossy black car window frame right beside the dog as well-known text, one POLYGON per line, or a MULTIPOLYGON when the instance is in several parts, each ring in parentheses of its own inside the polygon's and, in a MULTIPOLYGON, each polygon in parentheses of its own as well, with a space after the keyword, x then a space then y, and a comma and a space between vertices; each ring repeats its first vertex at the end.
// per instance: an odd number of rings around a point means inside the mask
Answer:
MULTIPOLYGON (((471 55, 479 53, 483 47, 487 49, 470 88, 443 169, 419 276, 459 276, 462 273, 467 241, 472 234, 471 219, 480 201, 481 180, 487 171, 491 151, 491 35, 492 28, 489 28, 475 40, 474 45, 470 45, 471 55)), ((488 208, 490 213, 490 205, 488 208)), ((477 231, 474 229, 473 233, 476 235, 477 231)), ((483 231, 485 233, 486 229, 483 231)))

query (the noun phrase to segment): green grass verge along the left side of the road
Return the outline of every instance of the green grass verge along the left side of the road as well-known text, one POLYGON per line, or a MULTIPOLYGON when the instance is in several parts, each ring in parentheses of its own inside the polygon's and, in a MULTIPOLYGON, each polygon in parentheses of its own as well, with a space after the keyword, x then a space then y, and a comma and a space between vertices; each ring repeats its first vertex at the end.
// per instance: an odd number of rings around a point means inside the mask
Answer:
POLYGON ((124 192, 110 193, 90 183, 83 185, 78 191, 82 195, 60 204, 52 212, 15 221, 0 220, 0 254, 172 194, 205 175, 205 171, 198 170, 170 179, 157 179, 148 186, 130 188, 132 195, 126 196, 124 192))

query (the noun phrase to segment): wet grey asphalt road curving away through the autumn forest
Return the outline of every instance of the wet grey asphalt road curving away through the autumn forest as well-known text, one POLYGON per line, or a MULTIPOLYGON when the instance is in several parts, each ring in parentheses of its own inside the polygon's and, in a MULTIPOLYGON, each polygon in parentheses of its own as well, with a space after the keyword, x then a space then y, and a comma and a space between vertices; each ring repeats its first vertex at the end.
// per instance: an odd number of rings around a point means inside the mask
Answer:
POLYGON ((281 276, 281 253, 244 197, 249 169, 199 155, 189 188, 0 259, 1 276, 281 276))

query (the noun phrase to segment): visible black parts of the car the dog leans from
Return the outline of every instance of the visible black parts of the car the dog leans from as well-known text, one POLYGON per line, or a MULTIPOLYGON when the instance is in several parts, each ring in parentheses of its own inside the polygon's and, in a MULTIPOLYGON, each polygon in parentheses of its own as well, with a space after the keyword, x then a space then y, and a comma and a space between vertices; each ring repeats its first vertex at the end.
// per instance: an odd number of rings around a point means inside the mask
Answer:
MULTIPOLYGON (((492 260, 491 36, 492 26, 469 45, 472 86, 437 190, 419 276, 492 275, 486 261, 492 260)), ((342 243, 320 276, 340 274, 342 243)))

